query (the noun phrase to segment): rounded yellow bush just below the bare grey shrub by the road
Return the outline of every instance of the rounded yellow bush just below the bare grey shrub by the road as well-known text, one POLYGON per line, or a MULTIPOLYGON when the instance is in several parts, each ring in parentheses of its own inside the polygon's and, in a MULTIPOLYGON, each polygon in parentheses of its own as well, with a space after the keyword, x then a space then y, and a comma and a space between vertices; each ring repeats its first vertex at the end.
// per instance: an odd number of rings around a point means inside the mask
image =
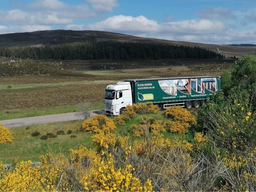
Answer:
POLYGON ((93 131, 95 133, 112 131, 116 128, 113 120, 105 115, 95 115, 92 119, 83 121, 81 127, 86 131, 93 131))

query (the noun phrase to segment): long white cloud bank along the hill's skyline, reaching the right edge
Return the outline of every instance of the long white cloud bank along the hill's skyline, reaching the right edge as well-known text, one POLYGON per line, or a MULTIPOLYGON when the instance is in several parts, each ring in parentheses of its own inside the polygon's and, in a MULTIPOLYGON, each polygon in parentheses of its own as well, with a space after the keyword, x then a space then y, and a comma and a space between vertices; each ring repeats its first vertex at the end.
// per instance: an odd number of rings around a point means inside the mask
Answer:
POLYGON ((67 25, 66 28, 120 32, 135 36, 212 44, 246 43, 248 41, 256 43, 256 30, 238 32, 227 29, 222 22, 209 19, 159 24, 143 15, 138 17, 116 15, 97 23, 89 25, 72 24, 67 25))

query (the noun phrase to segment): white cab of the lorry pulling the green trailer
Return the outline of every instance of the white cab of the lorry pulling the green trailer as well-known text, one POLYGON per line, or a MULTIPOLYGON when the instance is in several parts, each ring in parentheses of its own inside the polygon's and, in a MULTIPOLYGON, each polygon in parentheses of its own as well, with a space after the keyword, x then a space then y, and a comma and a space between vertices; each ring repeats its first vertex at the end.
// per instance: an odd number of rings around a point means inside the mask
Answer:
POLYGON ((119 115, 127 105, 132 105, 130 82, 118 82, 108 85, 105 93, 105 112, 108 115, 119 115))

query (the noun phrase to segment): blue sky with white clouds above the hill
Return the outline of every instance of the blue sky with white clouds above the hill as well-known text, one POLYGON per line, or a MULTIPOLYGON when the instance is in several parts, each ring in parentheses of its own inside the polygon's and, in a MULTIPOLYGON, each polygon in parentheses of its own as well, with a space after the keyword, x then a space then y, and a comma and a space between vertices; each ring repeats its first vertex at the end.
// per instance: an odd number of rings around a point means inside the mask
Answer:
POLYGON ((0 34, 54 29, 256 44, 256 0, 0 0, 0 34))

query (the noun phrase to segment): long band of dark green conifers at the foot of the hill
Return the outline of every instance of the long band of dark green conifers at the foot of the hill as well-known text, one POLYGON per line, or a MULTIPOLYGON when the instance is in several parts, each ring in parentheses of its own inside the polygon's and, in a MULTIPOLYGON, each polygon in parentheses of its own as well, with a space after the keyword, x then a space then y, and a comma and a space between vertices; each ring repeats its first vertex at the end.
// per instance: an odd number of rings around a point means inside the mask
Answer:
POLYGON ((199 47, 131 43, 131 42, 75 42, 44 47, 0 48, 2 57, 30 59, 179 59, 224 58, 223 54, 199 47))

